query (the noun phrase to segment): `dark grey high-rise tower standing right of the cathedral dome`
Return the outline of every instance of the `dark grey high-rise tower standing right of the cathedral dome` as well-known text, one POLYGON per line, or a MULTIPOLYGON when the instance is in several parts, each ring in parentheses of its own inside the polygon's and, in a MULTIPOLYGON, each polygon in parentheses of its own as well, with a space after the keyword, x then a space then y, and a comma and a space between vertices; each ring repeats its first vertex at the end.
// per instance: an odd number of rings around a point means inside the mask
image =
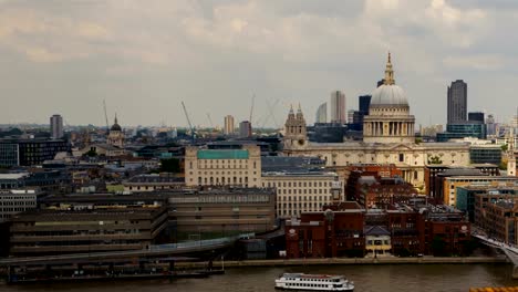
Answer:
POLYGON ((448 86, 448 117, 447 124, 466 122, 467 114, 467 83, 463 80, 452 82, 448 86))

